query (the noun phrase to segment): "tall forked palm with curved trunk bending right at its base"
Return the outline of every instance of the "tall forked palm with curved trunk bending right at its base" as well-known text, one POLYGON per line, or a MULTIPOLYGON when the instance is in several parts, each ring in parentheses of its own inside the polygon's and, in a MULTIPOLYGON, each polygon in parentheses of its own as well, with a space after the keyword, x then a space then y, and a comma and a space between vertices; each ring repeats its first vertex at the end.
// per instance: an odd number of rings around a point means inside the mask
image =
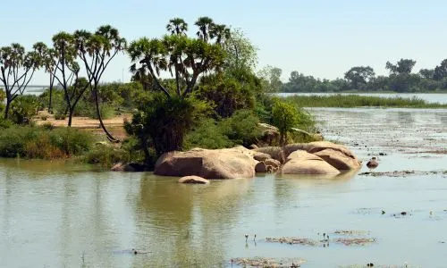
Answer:
POLYGON ((120 36, 118 29, 114 29, 110 25, 100 26, 94 34, 86 30, 77 30, 73 36, 77 54, 81 62, 84 63, 90 89, 95 98, 99 124, 109 140, 118 142, 119 140, 114 138, 105 128, 99 108, 99 92, 97 87, 105 69, 114 59, 114 56, 126 48, 126 39, 120 36))

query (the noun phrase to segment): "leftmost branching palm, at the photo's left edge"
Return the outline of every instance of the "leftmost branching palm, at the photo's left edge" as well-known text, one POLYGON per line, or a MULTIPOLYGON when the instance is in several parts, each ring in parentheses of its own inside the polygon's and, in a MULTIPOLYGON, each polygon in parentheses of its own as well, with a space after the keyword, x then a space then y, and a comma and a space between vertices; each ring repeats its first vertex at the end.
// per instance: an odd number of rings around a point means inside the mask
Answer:
POLYGON ((6 93, 4 118, 8 118, 11 103, 23 94, 40 64, 39 54, 36 51, 25 53, 25 48, 20 44, 0 47, 0 81, 6 93))

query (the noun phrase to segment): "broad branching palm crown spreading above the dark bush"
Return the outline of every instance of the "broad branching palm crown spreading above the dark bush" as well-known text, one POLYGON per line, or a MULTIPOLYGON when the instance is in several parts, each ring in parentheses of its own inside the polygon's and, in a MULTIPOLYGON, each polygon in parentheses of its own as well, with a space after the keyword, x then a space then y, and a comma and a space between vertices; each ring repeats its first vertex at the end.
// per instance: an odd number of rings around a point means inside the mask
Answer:
POLYGON ((165 36, 162 40, 140 38, 131 42, 128 52, 133 62, 131 70, 148 70, 156 88, 168 98, 172 93, 161 79, 163 71, 176 80, 176 95, 186 97, 201 74, 219 70, 224 61, 221 46, 185 36, 165 36))

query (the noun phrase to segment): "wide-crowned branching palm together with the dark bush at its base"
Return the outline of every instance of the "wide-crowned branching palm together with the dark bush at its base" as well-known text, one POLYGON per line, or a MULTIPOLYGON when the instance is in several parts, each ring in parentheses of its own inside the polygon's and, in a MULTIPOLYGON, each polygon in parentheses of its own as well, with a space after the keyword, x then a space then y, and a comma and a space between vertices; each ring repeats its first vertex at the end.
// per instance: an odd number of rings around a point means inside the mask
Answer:
POLYGON ((211 42, 209 36, 210 25, 215 24, 204 17, 199 18, 196 25, 198 38, 183 34, 160 39, 139 38, 127 49, 132 61, 131 71, 144 71, 164 96, 156 95, 139 107, 127 127, 147 152, 149 140, 153 141, 157 155, 182 148, 185 133, 204 105, 190 96, 199 77, 223 67, 223 47, 211 42), (163 79, 169 75, 172 79, 163 79))

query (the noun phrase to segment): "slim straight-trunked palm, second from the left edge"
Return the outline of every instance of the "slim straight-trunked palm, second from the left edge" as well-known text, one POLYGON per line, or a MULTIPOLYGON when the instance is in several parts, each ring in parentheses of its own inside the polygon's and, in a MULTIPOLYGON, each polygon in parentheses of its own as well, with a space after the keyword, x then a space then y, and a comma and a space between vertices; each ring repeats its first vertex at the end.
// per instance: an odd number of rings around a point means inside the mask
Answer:
POLYGON ((48 113, 52 113, 52 100, 53 100, 53 88, 55 85, 55 68, 56 68, 56 52, 55 49, 49 48, 43 42, 38 42, 33 46, 34 50, 39 54, 42 60, 42 66, 45 71, 50 75, 49 80, 49 100, 48 100, 48 113))

